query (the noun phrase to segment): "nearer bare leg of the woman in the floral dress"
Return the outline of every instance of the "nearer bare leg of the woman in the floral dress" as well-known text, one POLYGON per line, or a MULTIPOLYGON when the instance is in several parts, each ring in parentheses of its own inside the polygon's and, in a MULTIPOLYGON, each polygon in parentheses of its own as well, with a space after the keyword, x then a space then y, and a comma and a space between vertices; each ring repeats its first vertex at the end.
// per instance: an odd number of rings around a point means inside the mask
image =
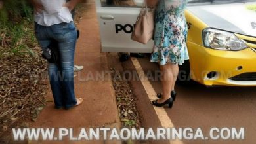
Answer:
POLYGON ((160 65, 163 96, 161 99, 158 99, 158 103, 163 103, 170 98, 171 88, 173 86, 173 72, 170 65, 171 63, 168 63, 167 65, 160 65))

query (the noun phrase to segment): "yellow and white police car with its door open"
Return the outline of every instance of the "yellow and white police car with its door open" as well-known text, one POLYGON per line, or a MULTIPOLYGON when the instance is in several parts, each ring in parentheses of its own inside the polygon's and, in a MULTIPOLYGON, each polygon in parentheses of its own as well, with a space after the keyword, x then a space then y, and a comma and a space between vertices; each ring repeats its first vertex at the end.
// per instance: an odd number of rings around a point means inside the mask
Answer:
MULTIPOLYGON (((133 1, 128 6, 96 1, 102 52, 152 52, 153 41, 131 40, 143 2, 133 1)), ((256 86, 255 8, 256 0, 188 0, 190 60, 181 69, 207 86, 256 86)))

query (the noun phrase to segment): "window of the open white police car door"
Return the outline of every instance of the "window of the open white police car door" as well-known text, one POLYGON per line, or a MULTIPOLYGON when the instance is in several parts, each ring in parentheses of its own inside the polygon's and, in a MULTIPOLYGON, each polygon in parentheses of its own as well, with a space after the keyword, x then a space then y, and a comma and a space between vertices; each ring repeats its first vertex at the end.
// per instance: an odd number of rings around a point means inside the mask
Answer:
POLYGON ((100 0, 102 7, 141 7, 143 0, 100 0))

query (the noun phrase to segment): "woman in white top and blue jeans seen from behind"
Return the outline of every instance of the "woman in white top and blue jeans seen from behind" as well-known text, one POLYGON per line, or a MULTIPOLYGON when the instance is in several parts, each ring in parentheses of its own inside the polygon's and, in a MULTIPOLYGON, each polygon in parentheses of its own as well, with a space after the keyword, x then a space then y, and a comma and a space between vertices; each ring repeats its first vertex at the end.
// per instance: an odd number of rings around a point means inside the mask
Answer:
POLYGON ((56 109, 70 109, 83 99, 75 98, 74 51, 77 31, 70 11, 79 0, 31 0, 35 8, 35 36, 42 50, 58 43, 60 65, 49 63, 49 79, 56 109))

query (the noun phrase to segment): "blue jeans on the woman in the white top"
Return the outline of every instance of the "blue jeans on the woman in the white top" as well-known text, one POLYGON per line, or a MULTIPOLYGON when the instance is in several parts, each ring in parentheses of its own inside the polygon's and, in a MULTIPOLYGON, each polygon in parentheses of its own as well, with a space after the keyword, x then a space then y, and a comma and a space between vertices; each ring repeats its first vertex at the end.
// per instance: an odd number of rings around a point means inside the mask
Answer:
POLYGON ((77 32, 74 22, 41 26, 35 22, 35 36, 45 50, 55 40, 60 53, 60 66, 49 63, 48 73, 55 107, 69 109, 77 104, 74 92, 74 53, 77 32))

